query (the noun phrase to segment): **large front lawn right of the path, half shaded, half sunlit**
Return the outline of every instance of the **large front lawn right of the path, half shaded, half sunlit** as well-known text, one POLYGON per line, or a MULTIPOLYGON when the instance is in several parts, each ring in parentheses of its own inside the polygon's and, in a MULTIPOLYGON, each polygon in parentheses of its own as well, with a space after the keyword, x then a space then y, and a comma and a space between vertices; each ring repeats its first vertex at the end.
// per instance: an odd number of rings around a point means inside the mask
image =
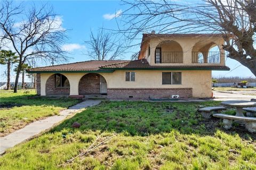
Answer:
POLYGON ((256 135, 236 124, 225 131, 218 118, 197 113, 199 106, 213 105, 219 102, 105 101, 7 150, 0 168, 256 169, 256 135), (74 122, 80 128, 71 128, 74 122))

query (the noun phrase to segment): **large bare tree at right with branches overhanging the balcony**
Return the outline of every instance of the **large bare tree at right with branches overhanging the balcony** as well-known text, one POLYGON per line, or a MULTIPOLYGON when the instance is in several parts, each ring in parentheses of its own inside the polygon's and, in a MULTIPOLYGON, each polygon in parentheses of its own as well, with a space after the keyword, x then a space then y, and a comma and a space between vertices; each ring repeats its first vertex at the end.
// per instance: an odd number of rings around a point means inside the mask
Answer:
POLYGON ((220 33, 228 57, 256 76, 256 1, 203 0, 202 3, 173 1, 124 1, 119 32, 134 39, 141 32, 220 33), (122 26, 122 27, 120 27, 122 26))

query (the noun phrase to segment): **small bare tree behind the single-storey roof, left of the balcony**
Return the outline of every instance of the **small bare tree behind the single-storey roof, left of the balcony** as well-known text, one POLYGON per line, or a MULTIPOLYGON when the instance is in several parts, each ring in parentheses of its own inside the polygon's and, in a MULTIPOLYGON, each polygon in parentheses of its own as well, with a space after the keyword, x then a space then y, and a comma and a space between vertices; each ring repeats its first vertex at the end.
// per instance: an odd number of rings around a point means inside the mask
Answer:
POLYGON ((122 45, 104 29, 99 29, 97 35, 91 31, 90 41, 85 41, 88 46, 88 56, 94 60, 115 60, 124 53, 122 45))

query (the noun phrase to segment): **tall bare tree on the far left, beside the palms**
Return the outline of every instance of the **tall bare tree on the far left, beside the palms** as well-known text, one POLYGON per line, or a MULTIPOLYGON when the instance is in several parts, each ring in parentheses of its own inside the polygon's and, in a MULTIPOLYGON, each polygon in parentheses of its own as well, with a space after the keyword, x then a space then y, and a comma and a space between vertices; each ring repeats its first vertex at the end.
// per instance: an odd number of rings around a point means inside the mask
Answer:
POLYGON ((68 60, 61 48, 67 38, 66 30, 61 27, 59 16, 47 5, 32 6, 29 10, 12 1, 2 1, 0 5, 1 47, 13 49, 19 60, 14 83, 14 92, 17 92, 19 75, 26 61, 68 60))

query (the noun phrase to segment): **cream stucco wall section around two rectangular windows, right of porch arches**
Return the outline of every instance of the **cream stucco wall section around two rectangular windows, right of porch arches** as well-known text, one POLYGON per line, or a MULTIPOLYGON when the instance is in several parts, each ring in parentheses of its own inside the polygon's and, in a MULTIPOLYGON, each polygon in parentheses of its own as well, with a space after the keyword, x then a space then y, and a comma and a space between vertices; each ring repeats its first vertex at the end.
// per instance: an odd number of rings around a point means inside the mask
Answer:
POLYGON ((172 71, 131 70, 135 72, 135 81, 125 81, 125 72, 120 70, 102 73, 108 88, 192 88, 193 97, 204 98, 212 95, 211 71, 175 71, 182 72, 180 85, 162 84, 162 72, 172 71))

